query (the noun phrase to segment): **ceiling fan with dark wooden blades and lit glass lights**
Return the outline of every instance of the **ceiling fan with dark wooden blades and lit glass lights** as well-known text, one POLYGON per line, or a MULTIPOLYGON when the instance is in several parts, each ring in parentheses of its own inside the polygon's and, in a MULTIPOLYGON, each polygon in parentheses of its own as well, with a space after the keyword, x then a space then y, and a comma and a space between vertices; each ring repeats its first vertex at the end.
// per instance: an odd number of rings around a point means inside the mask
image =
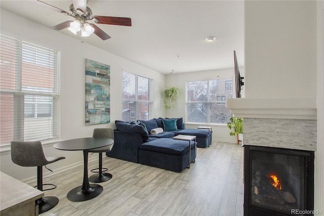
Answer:
POLYGON ((87 37, 92 33, 95 33, 102 40, 110 39, 111 37, 101 30, 97 25, 90 24, 89 22, 95 22, 98 24, 109 24, 109 25, 124 25, 132 26, 132 20, 128 17, 107 17, 107 16, 94 16, 92 10, 87 7, 87 0, 73 0, 73 4, 70 5, 69 11, 66 12, 55 6, 49 5, 45 2, 37 0, 37 2, 45 4, 47 7, 54 9, 64 15, 74 18, 74 21, 68 20, 58 25, 52 26, 52 29, 62 30, 68 28, 71 32, 81 31, 82 37, 87 37))

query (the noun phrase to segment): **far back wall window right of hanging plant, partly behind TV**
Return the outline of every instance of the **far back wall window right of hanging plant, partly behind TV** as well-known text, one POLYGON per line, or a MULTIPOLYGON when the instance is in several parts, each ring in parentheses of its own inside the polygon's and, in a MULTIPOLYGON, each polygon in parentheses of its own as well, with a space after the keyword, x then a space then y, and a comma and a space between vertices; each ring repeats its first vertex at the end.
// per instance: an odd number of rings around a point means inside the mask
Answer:
POLYGON ((232 80, 187 82, 187 121, 226 124, 232 117, 226 98, 232 97, 232 80))

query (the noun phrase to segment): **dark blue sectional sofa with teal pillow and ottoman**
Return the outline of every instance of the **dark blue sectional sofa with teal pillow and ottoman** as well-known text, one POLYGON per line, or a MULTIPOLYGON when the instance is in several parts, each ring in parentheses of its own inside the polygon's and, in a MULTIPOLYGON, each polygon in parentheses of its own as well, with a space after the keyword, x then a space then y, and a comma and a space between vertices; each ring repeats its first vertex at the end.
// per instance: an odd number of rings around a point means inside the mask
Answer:
POLYGON ((189 142, 173 137, 179 134, 197 137, 197 142, 190 142, 190 159, 193 162, 195 148, 199 144, 203 148, 209 146, 211 136, 208 130, 185 129, 182 118, 137 122, 117 120, 115 125, 117 129, 114 130, 114 146, 106 153, 108 157, 176 172, 181 172, 188 166, 189 142), (156 128, 163 128, 163 132, 151 134, 152 129, 156 128))

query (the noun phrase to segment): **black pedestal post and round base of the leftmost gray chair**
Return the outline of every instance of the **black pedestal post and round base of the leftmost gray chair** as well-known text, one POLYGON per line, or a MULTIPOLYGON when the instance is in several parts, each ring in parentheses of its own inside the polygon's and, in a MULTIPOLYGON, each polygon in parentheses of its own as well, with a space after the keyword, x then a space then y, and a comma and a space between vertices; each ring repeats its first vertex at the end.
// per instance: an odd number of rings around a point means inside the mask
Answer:
MULTIPOLYGON (((43 166, 37 166, 37 189, 43 191, 43 166)), ((54 208, 59 199, 53 196, 42 197, 37 200, 38 213, 43 213, 54 208)))

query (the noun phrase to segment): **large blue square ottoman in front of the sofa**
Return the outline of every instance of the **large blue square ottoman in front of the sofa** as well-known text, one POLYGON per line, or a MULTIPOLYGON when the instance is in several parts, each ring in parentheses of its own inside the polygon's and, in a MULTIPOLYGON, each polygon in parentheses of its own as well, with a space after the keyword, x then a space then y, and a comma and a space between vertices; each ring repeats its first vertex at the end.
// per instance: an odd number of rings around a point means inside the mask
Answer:
MULTIPOLYGON (((194 160, 196 142, 190 141, 191 162, 194 160)), ((171 138, 159 138, 139 147, 139 163, 181 172, 188 166, 189 142, 171 138)))

